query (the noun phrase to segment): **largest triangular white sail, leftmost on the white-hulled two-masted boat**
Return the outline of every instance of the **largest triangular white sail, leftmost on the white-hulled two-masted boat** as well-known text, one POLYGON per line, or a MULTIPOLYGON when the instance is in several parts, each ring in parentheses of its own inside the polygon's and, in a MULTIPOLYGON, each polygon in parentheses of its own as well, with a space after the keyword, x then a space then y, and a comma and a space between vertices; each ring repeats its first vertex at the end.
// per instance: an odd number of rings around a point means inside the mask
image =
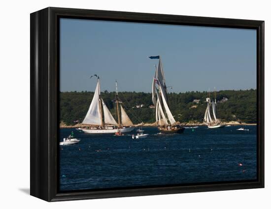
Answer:
POLYGON ((82 122, 83 124, 102 125, 102 115, 100 112, 99 95, 100 95, 100 82, 98 80, 92 102, 89 106, 89 110, 82 122))

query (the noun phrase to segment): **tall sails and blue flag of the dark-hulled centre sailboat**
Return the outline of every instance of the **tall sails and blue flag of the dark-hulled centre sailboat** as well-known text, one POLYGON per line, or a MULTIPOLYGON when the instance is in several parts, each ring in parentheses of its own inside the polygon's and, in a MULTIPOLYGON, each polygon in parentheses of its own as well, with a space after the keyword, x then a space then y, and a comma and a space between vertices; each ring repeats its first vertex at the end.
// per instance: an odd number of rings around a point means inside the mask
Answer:
POLYGON ((162 125, 162 122, 163 125, 175 125, 176 121, 169 109, 165 74, 161 58, 160 56, 157 56, 157 58, 151 59, 159 59, 158 67, 155 69, 152 82, 152 102, 156 106, 156 121, 159 126, 162 125))

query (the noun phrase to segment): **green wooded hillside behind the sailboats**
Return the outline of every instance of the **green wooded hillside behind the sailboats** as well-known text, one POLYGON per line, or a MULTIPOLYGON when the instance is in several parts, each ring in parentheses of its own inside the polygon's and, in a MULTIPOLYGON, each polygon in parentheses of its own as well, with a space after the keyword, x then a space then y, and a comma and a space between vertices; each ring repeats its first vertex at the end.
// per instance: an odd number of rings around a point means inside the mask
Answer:
MULTIPOLYGON (((61 92, 60 93, 60 120, 67 125, 74 125, 79 120, 82 122, 94 92, 61 92)), ((102 99, 116 117, 115 92, 104 91, 102 99)), ((186 92, 169 93, 169 108, 176 121, 181 123, 203 122, 206 109, 205 98, 209 97, 208 92, 186 92), (200 100, 197 104, 194 100, 200 100)), ((211 93, 211 98, 214 94, 211 93)), ((149 108, 152 104, 152 94, 144 92, 120 92, 119 98, 126 108, 127 114, 134 122, 153 123, 155 122, 155 108, 149 108), (143 104, 143 107, 136 108, 136 105, 143 104), (134 108, 133 108, 134 107, 134 108)), ((239 121, 245 123, 256 123, 257 121, 257 92, 256 90, 224 90, 216 92, 216 100, 223 98, 228 100, 224 103, 217 103, 217 117, 221 121, 239 121)))

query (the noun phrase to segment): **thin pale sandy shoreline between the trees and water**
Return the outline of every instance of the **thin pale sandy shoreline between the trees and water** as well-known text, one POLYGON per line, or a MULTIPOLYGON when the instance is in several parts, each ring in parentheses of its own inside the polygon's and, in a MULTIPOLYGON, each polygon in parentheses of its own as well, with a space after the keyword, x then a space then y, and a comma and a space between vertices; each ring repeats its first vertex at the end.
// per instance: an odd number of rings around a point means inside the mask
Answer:
MULTIPOLYGON (((206 126, 205 124, 203 123, 187 123, 187 124, 181 124, 182 126, 187 126, 187 127, 193 127, 193 126, 206 126)), ((238 123, 236 121, 231 121, 231 122, 227 122, 225 123, 225 125, 231 125, 231 126, 256 126, 257 123, 238 123)), ((157 124, 156 122, 155 123, 146 123, 146 124, 136 124, 135 127, 139 127, 139 126, 144 126, 144 127, 156 127, 157 124)), ((60 126, 59 126, 61 129, 70 129, 70 128, 80 128, 81 127, 81 124, 75 124, 73 126, 67 126, 66 124, 64 123, 60 123, 60 126)))

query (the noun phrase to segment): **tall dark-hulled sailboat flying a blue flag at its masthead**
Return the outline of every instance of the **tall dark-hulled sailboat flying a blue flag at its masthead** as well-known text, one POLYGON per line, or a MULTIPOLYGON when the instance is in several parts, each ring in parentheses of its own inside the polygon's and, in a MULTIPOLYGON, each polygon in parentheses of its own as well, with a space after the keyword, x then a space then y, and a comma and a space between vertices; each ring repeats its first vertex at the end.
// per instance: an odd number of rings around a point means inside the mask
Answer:
POLYGON ((152 102, 155 105, 155 117, 158 130, 162 133, 183 133, 184 127, 174 119, 169 109, 165 74, 160 56, 151 56, 150 59, 159 59, 158 67, 155 66, 155 74, 152 82, 152 102))

